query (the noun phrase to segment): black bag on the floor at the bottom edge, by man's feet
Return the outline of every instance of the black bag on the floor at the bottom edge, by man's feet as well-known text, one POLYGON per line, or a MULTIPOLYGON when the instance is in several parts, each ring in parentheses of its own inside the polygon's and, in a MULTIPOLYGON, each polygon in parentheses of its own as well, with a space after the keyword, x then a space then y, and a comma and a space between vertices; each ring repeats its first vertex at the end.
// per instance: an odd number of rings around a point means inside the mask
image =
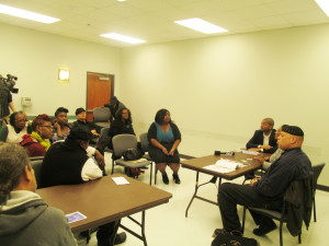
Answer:
POLYGON ((256 239, 248 237, 240 237, 223 232, 216 236, 212 246, 258 246, 256 239))

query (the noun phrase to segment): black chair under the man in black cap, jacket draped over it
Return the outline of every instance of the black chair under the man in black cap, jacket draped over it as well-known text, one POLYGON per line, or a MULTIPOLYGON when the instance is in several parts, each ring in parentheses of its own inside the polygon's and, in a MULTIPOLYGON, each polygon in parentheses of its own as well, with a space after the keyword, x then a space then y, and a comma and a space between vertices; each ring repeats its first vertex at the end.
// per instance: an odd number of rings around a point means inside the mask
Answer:
MULTIPOLYGON (((308 181, 310 184, 311 179, 313 179, 313 176, 305 178, 305 179, 294 180, 291 183, 291 185, 287 187, 287 189, 284 194, 283 208, 282 208, 281 212, 279 212, 276 210, 259 209, 259 208, 253 208, 253 207, 243 207, 242 232, 245 231, 246 210, 249 209, 250 211, 258 213, 262 216, 266 216, 272 220, 280 221, 280 245, 283 246, 282 226, 283 226, 283 223, 287 223, 287 200, 286 200, 287 190, 291 189, 291 186, 295 185, 294 183, 298 183, 298 184, 303 185, 305 181, 308 181)), ((302 243, 302 230, 298 233, 298 244, 300 244, 300 243, 302 243)))

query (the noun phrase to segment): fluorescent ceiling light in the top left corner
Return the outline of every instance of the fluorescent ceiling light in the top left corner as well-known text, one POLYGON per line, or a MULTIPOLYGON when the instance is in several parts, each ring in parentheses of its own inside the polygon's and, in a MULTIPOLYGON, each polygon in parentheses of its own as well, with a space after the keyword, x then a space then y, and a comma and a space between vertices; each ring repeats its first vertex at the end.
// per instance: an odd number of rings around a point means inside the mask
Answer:
POLYGON ((31 11, 21 10, 21 9, 16 9, 16 8, 3 5, 3 4, 0 4, 0 13, 13 15, 16 17, 27 19, 31 21, 43 22, 43 23, 47 23, 47 24, 60 21, 59 19, 56 19, 56 17, 50 17, 50 16, 47 16, 44 14, 38 14, 38 13, 31 12, 31 11))

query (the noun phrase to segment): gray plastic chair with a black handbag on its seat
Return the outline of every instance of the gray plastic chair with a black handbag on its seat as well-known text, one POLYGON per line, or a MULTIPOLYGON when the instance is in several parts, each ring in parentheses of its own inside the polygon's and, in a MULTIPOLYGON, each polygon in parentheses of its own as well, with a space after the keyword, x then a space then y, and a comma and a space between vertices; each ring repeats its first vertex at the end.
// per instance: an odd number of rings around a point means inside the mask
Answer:
MULTIPOLYGON (((137 138, 134 134, 117 134, 112 139, 113 154, 114 156, 122 156, 123 153, 131 148, 137 148, 137 138)), ((124 161, 123 157, 114 160, 112 159, 112 174, 114 172, 114 164, 121 165, 128 168, 140 168, 150 165, 150 178, 149 184, 152 181, 152 162, 151 161, 124 161)), ((134 175, 134 177, 136 177, 134 175)))

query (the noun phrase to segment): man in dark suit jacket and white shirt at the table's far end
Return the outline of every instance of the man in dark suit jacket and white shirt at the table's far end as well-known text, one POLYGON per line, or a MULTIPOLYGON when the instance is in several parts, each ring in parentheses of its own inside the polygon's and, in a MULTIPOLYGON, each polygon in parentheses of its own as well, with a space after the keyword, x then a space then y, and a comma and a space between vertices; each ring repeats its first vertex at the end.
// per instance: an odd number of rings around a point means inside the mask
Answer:
POLYGON ((247 149, 263 151, 264 153, 274 153, 277 145, 275 140, 274 120, 264 118, 261 122, 261 129, 256 130, 253 137, 246 144, 247 149))

